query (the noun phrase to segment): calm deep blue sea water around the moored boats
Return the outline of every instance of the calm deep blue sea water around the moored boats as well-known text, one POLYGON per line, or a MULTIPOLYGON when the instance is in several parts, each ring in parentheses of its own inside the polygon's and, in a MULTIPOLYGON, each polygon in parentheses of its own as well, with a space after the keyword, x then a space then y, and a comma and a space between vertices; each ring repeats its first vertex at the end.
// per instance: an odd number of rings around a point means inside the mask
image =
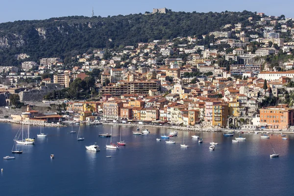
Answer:
MULTIPOLYGON (((203 143, 191 136, 200 133, 178 131, 166 144, 160 138, 168 128, 148 128, 147 135, 132 135, 137 127, 113 125, 113 142, 122 140, 119 150, 105 149, 111 125, 81 125, 84 141, 70 134, 72 127, 43 127, 47 138, 37 138, 40 127, 31 126, 35 145, 18 145, 23 154, 11 154, 19 124, 0 123, 1 196, 291 196, 294 195, 294 135, 282 140, 261 134, 241 134, 246 141, 232 143, 222 133, 202 133, 203 143), (183 142, 189 148, 182 148, 183 142), (214 151, 208 147, 218 142, 214 151), (97 143, 99 152, 85 146, 97 143), (278 158, 270 158, 273 153, 278 158), (50 159, 50 154, 55 158, 50 159), (14 160, 3 160, 4 156, 14 160), (107 158, 106 156, 112 156, 107 158)), ((27 127, 25 127, 26 129, 27 127)), ((78 130, 78 125, 73 125, 78 130)), ((239 137, 239 134, 235 134, 239 137)))

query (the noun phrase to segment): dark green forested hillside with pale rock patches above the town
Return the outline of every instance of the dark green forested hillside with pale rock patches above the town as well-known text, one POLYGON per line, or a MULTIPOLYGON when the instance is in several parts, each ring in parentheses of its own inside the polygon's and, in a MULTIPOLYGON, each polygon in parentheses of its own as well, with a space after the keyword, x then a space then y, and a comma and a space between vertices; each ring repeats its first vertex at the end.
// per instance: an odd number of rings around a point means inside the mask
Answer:
POLYGON ((61 17, 48 20, 16 21, 0 24, 0 65, 20 65, 25 60, 45 57, 70 58, 90 48, 114 48, 153 39, 201 36, 226 24, 248 24, 253 12, 130 14, 113 17, 61 17))

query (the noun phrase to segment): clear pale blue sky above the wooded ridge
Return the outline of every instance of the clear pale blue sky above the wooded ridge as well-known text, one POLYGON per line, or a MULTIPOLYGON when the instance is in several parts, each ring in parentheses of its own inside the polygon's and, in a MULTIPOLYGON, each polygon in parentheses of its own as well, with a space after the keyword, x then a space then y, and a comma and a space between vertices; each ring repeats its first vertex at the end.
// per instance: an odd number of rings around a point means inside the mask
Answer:
POLYGON ((127 15, 152 12, 153 8, 185 12, 252 11, 294 18, 294 0, 1 0, 0 23, 43 20, 62 16, 127 15), (286 6, 287 5, 287 6, 286 6))

